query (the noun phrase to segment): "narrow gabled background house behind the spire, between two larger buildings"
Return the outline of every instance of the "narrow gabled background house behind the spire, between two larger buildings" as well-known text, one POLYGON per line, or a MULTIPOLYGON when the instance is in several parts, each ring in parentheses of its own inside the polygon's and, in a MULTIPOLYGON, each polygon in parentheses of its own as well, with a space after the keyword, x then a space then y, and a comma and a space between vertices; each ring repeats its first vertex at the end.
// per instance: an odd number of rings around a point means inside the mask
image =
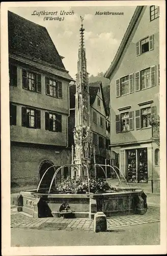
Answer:
MULTIPOLYGON (((74 144, 73 129, 75 126, 75 85, 71 85, 70 92, 70 117, 69 117, 69 146, 74 144)), ((110 164, 110 120, 109 111, 105 104, 102 83, 100 81, 89 84, 90 94, 90 126, 92 131, 94 163, 110 164)), ((110 175, 110 168, 105 168, 110 175)), ((97 176, 103 176, 102 169, 97 167, 97 176)))

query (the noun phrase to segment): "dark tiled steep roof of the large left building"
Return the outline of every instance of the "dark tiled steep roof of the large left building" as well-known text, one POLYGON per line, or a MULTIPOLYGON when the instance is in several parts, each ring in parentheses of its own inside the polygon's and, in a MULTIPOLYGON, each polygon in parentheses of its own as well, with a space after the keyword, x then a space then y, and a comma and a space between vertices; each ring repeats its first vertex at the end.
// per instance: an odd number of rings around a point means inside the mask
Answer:
POLYGON ((24 54, 65 70, 46 28, 8 11, 9 53, 24 54))

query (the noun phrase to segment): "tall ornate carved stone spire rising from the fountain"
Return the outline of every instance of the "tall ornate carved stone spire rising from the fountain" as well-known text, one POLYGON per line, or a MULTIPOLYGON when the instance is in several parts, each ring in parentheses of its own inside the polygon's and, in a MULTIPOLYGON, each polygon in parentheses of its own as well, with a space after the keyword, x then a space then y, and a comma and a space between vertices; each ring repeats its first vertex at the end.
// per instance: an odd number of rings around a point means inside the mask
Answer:
POLYGON ((80 164, 73 169, 72 177, 75 175, 81 179, 87 175, 92 158, 92 134, 90 129, 90 96, 87 72, 86 50, 84 42, 83 20, 81 17, 80 45, 78 50, 76 94, 75 94, 75 128, 74 144, 75 155, 73 162, 80 164), (76 172, 76 173, 74 173, 76 172))

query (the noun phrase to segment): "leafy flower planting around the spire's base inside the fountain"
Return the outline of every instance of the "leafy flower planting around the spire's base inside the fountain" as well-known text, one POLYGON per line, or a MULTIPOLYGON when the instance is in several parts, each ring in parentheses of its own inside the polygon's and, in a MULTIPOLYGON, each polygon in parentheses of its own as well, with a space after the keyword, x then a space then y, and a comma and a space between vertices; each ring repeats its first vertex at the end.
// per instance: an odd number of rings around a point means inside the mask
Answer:
POLYGON ((85 178, 81 180, 80 178, 70 178, 68 177, 65 179, 61 184, 58 186, 58 190, 61 193, 70 193, 70 194, 86 194, 89 192, 90 186, 90 193, 99 193, 104 192, 106 190, 111 190, 109 184, 101 178, 85 178))

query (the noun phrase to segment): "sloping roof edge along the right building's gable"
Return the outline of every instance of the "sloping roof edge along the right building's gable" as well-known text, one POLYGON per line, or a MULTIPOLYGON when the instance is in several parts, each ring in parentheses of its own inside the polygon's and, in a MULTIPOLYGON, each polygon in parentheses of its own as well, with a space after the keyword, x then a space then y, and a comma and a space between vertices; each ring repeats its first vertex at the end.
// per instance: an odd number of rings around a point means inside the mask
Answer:
POLYGON ((144 6, 137 6, 136 7, 136 9, 134 11, 134 14, 133 14, 133 16, 132 16, 132 18, 130 20, 129 26, 128 26, 128 28, 127 28, 127 30, 125 32, 125 35, 124 35, 124 37, 122 39, 122 42, 121 42, 121 44, 120 44, 120 46, 118 48, 118 51, 117 51, 117 53, 116 53, 116 55, 114 57, 114 60, 111 63, 111 65, 108 68, 108 70, 106 71, 104 77, 109 78, 110 75, 115 70, 115 68, 117 67, 118 62, 119 62, 119 60, 120 60, 120 58, 121 58, 121 56, 122 56, 122 54, 123 54, 123 52, 124 52, 124 50, 126 48, 126 45, 127 45, 128 41, 129 41, 130 35, 134 31, 134 29, 137 28, 137 24, 136 23, 137 23, 137 20, 140 17, 142 11, 143 11, 143 8, 144 8, 144 6))

